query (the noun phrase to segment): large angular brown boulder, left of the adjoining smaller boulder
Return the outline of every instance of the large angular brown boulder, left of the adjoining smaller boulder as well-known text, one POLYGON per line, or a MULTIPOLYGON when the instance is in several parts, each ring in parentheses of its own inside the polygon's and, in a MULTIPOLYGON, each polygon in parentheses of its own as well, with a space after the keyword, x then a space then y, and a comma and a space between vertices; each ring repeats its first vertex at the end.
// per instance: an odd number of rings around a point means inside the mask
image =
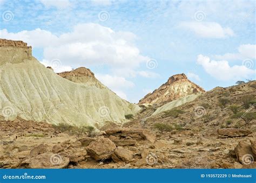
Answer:
POLYGON ((109 138, 98 138, 86 147, 87 154, 96 160, 111 158, 115 149, 116 145, 109 138))

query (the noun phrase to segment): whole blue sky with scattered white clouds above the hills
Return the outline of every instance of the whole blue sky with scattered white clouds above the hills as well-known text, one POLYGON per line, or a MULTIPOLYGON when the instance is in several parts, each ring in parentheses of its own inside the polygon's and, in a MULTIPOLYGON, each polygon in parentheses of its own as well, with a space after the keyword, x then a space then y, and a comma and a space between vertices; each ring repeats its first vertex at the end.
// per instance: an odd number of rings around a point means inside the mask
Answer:
POLYGON ((206 90, 255 80, 255 1, 0 0, 0 38, 55 72, 84 66, 137 103, 173 74, 206 90))

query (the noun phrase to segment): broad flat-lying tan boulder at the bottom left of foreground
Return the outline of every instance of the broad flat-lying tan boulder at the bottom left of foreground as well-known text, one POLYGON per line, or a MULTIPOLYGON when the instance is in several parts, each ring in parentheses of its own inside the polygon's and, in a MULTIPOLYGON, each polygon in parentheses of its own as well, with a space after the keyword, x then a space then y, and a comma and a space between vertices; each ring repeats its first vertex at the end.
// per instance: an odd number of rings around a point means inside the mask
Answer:
POLYGON ((69 158, 63 154, 45 152, 36 157, 22 161, 19 168, 66 168, 69 165, 69 158))

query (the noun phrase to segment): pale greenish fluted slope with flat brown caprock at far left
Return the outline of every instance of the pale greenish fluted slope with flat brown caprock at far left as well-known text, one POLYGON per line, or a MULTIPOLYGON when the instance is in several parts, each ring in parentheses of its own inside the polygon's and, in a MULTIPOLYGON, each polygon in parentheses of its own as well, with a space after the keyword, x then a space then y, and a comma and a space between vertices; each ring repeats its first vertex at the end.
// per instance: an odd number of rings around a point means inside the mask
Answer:
POLYGON ((22 41, 0 39, 0 78, 0 118, 5 120, 97 127, 106 121, 123 123, 125 115, 140 109, 104 86, 58 76, 33 58, 22 41))

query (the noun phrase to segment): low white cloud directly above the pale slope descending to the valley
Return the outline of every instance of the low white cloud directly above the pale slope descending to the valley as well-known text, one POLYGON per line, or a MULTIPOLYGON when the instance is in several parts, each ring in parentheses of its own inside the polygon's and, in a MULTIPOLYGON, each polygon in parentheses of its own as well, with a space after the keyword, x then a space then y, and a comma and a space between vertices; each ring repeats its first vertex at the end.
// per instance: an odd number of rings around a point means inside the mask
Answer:
POLYGON ((111 76, 109 74, 95 74, 95 77, 103 83, 103 85, 107 86, 109 89, 114 91, 118 96, 127 100, 127 96, 124 93, 124 89, 129 89, 134 87, 134 83, 131 81, 127 81, 123 77, 111 76))

